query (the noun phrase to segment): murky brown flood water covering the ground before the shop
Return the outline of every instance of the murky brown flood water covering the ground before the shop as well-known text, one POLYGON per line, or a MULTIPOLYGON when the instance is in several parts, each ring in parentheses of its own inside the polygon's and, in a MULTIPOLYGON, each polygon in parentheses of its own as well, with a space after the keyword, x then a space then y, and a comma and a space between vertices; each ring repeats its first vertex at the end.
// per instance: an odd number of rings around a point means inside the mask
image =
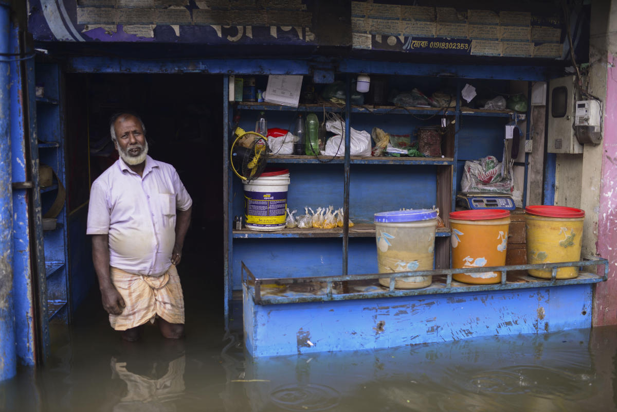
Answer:
POLYGON ((189 272, 186 339, 152 326, 122 342, 96 291, 70 328, 52 326, 46 366, 0 384, 0 410, 617 410, 615 327, 252 360, 241 331, 225 334, 220 285, 189 272))

